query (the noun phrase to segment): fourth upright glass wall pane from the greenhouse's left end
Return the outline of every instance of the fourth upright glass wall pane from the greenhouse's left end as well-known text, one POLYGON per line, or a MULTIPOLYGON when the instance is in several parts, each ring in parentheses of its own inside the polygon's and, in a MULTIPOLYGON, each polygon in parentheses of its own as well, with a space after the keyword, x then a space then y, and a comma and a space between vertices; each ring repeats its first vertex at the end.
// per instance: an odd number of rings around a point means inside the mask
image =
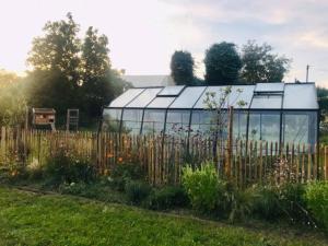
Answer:
POLYGON ((166 116, 166 134, 187 136, 189 132, 190 110, 168 110, 166 116))

